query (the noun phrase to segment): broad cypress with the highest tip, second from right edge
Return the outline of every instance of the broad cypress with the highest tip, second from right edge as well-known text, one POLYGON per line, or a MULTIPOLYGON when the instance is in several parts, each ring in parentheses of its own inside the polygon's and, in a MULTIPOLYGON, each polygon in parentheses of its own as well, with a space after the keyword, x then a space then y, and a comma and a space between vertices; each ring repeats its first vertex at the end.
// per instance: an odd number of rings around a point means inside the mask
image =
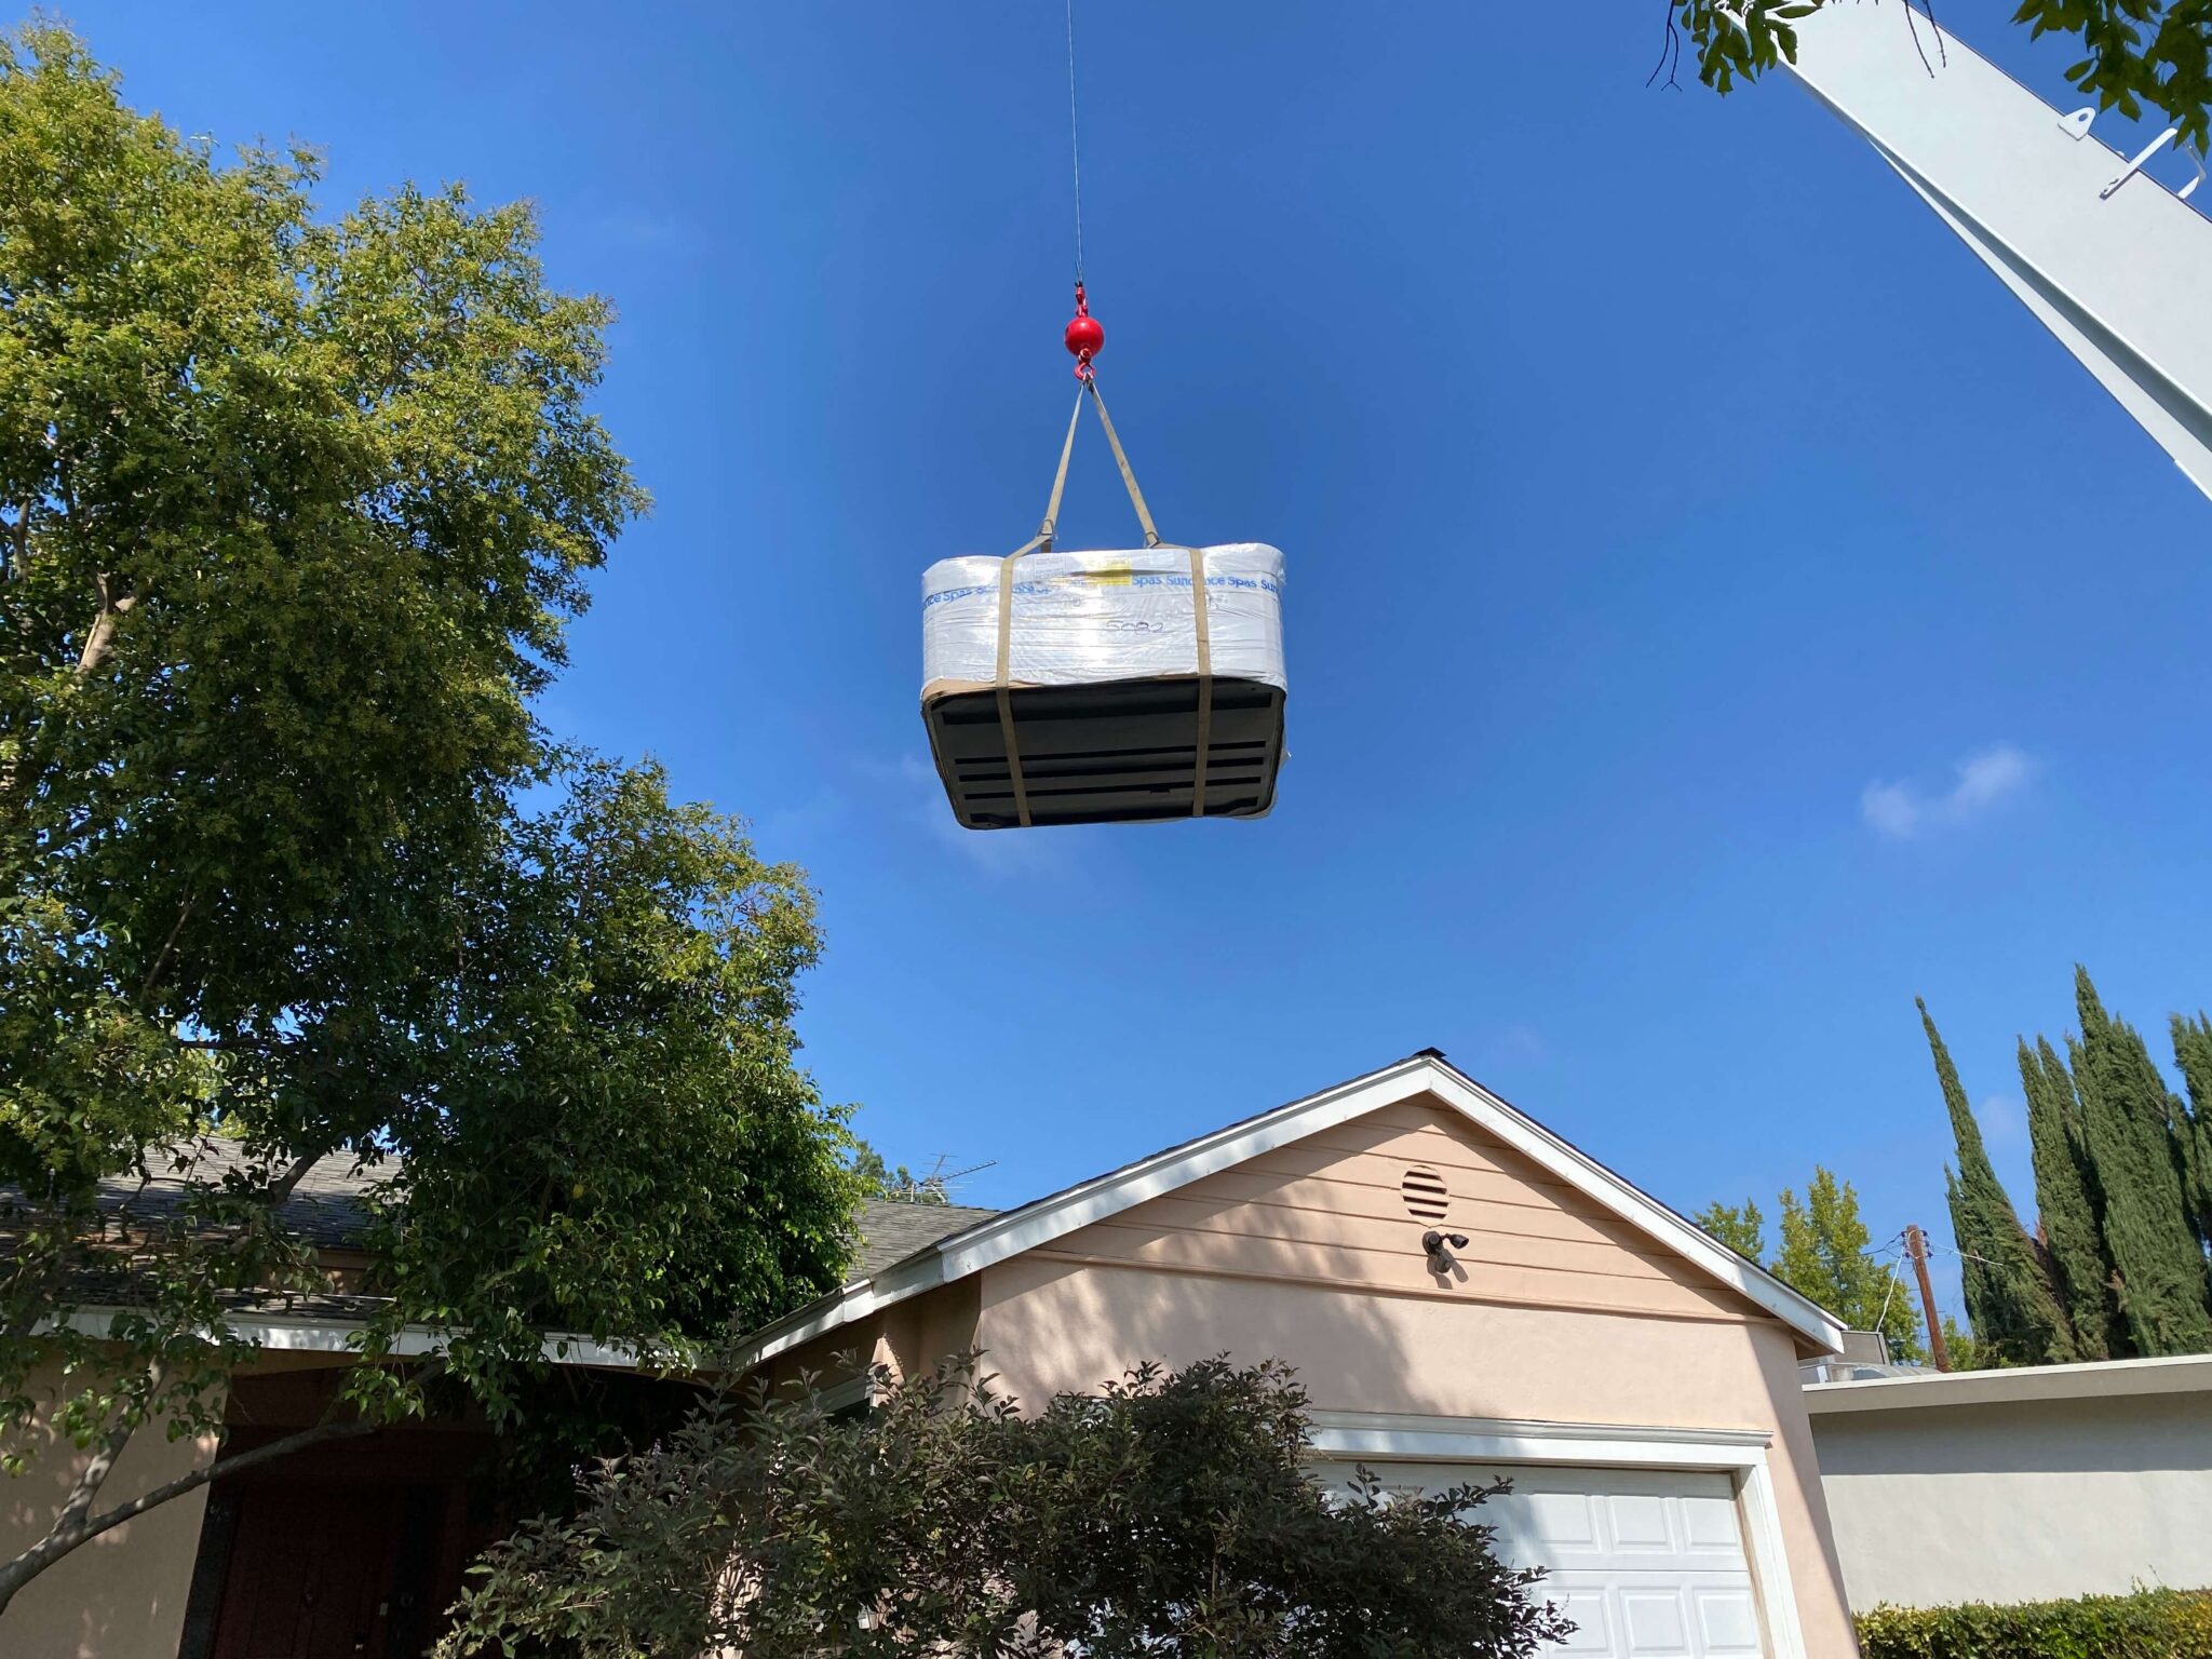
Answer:
POLYGON ((2104 1248, 2119 1274, 2128 1336, 2146 1356, 2203 1354, 2212 1349, 2212 1301, 2174 1146, 2181 1106, 2141 1035, 2104 1011, 2081 967, 2075 967, 2075 1006, 2081 1144, 2104 1194, 2104 1248))

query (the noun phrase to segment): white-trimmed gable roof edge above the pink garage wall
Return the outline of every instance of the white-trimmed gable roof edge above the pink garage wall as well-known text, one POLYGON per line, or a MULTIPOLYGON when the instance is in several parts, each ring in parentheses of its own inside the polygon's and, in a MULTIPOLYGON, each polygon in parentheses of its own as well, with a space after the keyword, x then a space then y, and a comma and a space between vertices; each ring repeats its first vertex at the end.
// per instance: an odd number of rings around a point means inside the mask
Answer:
MULTIPOLYGON (((1062 1188, 1020 1208, 967 1212, 980 1219, 927 1239, 905 1256, 885 1261, 878 1256, 885 1256, 887 1250, 869 1250, 860 1263, 863 1276, 834 1296, 825 1296, 754 1332, 739 1354, 739 1363, 759 1365, 825 1332, 865 1318, 880 1307, 967 1279, 1024 1250, 1035 1250, 1077 1228, 1088 1228, 1093 1221, 1104 1221, 1208 1175, 1234 1168, 1261 1152, 1272 1152, 1279 1146, 1290 1146, 1307 1135, 1349 1124, 1356 1117, 1418 1095, 1429 1095, 1460 1113, 1553 1179, 1575 1188, 1655 1243, 1697 1265, 1710 1279, 1774 1314, 1774 1318, 1796 1332, 1816 1352, 1836 1354, 1843 1347, 1845 1327, 1834 1314, 1785 1285, 1759 1263, 1739 1256, 1688 1217, 1630 1186, 1526 1113, 1509 1106, 1458 1066, 1451 1066, 1440 1051, 1422 1048, 1383 1071, 1323 1088, 1318 1095, 1294 1099, 1259 1117, 1245 1117, 1239 1124, 1217 1128, 1212 1135, 1152 1152, 1135 1164, 1124 1164, 1119 1170, 1062 1188)), ((949 1217, 945 1208, 933 1208, 929 1214, 949 1217)))

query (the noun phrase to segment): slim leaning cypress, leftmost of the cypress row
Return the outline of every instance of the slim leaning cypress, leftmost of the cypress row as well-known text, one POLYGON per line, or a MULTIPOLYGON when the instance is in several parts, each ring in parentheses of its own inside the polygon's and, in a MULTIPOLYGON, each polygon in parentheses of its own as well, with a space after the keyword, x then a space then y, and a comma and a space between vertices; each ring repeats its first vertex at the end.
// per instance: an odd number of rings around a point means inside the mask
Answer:
MULTIPOLYGON (((1916 1000, 1918 1002, 1918 1000, 1916 1000)), ((1936 1057, 1936 1082, 1951 1110, 1958 1141, 1958 1172, 1944 1170, 1951 1232, 1958 1237, 1960 1279, 1966 1290, 1966 1323, 1975 1343, 2000 1365, 2057 1365, 2075 1358, 2073 1329, 2059 1298, 2048 1254, 2028 1237, 2013 1201, 1991 1168, 1982 1126, 1973 1121, 1966 1091, 1958 1082, 1929 1004, 1918 1002, 1920 1024, 1936 1057)))

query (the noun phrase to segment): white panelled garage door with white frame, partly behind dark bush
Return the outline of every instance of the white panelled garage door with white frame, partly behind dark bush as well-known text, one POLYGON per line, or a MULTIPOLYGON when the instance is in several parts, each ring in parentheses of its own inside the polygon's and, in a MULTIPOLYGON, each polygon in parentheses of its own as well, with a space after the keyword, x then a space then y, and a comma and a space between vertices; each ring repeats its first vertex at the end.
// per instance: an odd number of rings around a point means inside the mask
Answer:
POLYGON ((1728 1475, 1674 1469, 1371 1464, 1391 1491, 1509 1475, 1482 1506, 1515 1566, 1575 1621, 1553 1652, 1590 1659, 1754 1659, 1765 1652, 1728 1475))

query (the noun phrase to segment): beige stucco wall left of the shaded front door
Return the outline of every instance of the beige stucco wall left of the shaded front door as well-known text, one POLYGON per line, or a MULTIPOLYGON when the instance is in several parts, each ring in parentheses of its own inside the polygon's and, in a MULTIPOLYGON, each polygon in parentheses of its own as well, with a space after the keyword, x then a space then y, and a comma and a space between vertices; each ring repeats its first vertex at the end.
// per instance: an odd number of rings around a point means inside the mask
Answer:
MULTIPOLYGON (((33 1376, 31 1396, 51 1398, 58 1376, 33 1376)), ((40 1436, 40 1455, 18 1478, 0 1475, 0 1553, 15 1555, 53 1524, 82 1458, 40 1436)), ((168 1440, 142 1429, 100 1489, 100 1506, 137 1498, 215 1455, 215 1440, 168 1440)), ((22 1659, 177 1659, 184 1604, 199 1553, 208 1491, 186 1493, 102 1533, 46 1568, 0 1615, 0 1655, 22 1659)))

